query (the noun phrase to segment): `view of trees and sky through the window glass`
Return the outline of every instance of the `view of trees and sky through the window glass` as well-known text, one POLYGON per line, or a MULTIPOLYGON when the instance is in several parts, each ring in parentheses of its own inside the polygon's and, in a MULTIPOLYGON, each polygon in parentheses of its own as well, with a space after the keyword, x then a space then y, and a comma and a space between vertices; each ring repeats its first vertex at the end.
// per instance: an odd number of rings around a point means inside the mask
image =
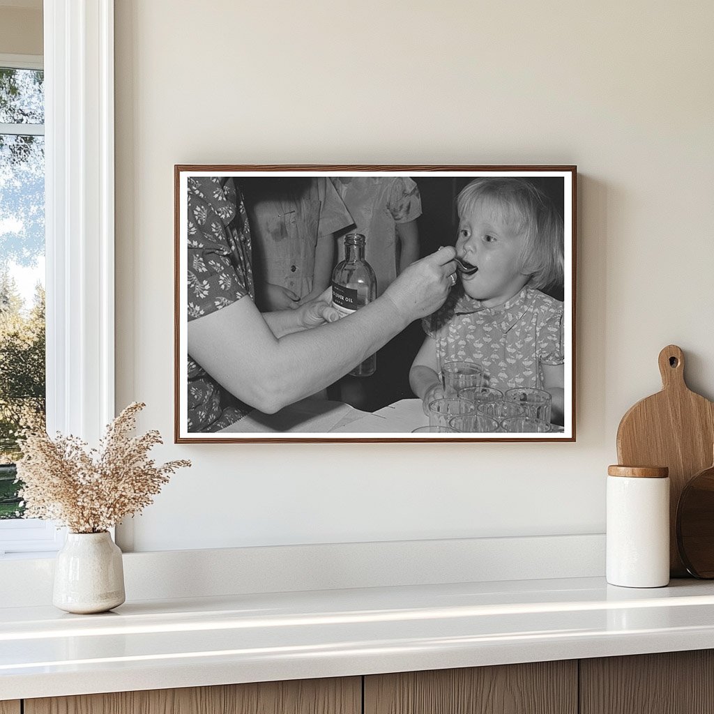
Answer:
POLYGON ((43 80, 0 66, 0 519, 22 513, 17 432, 45 413, 43 80))

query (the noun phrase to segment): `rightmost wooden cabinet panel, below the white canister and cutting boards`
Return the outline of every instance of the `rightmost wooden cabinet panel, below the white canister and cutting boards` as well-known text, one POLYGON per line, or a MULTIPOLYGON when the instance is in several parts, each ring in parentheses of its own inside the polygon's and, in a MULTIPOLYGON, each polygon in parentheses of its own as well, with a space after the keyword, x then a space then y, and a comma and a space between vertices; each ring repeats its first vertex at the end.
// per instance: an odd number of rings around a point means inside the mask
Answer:
POLYGON ((714 651, 580 660, 581 714, 714 711, 714 651))

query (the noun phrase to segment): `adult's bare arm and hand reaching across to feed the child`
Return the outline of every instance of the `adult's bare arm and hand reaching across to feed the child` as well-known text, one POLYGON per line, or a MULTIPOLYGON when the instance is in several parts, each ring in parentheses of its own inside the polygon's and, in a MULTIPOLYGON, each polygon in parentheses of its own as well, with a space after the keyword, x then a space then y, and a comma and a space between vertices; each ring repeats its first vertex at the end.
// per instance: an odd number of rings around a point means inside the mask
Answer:
POLYGON ((188 353, 236 397, 266 413, 346 374, 448 294, 453 248, 414 263, 381 298, 338 322, 276 338, 250 298, 188 323, 188 353))

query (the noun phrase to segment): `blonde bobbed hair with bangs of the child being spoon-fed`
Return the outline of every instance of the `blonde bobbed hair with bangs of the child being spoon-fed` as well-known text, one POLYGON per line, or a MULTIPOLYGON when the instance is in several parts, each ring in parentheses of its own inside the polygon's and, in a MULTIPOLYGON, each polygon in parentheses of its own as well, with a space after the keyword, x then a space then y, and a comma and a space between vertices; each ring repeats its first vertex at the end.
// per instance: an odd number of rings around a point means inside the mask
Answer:
POLYGON ((476 178, 456 199, 459 218, 483 203, 515 233, 525 233, 521 272, 538 290, 563 284, 563 218, 548 196, 524 178, 476 178))

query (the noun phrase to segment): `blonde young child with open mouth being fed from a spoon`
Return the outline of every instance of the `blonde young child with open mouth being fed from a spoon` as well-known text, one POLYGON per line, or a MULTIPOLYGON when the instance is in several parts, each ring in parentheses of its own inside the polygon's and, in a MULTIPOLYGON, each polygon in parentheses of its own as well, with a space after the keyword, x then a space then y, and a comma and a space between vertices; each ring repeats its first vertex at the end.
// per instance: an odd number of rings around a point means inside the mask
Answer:
POLYGON ((476 272, 423 321, 426 340, 409 373, 428 405, 442 396, 441 366, 472 362, 488 386, 535 387, 563 423, 563 303, 545 294, 563 284, 563 218, 523 178, 477 178, 457 199, 456 253, 476 272))

